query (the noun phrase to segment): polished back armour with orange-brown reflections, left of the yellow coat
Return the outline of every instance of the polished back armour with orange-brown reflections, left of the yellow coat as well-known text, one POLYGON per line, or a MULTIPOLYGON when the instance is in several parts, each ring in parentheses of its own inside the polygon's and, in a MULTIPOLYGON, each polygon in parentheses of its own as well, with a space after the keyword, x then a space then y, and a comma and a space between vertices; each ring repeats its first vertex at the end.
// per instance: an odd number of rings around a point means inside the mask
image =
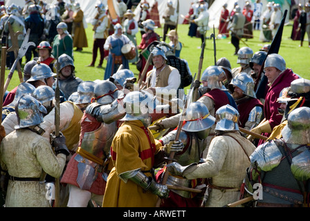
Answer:
POLYGON ((81 148, 104 160, 109 156, 112 140, 117 129, 116 122, 102 123, 97 130, 84 133, 81 148))

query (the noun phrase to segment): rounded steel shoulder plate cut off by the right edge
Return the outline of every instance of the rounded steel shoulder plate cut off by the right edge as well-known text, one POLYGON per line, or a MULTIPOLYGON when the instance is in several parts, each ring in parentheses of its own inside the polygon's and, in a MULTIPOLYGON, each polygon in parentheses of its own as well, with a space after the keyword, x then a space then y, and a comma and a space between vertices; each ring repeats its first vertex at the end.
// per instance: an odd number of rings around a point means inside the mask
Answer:
POLYGON ((310 178, 310 151, 308 148, 305 148, 302 153, 293 157, 291 171, 299 181, 305 181, 310 178))

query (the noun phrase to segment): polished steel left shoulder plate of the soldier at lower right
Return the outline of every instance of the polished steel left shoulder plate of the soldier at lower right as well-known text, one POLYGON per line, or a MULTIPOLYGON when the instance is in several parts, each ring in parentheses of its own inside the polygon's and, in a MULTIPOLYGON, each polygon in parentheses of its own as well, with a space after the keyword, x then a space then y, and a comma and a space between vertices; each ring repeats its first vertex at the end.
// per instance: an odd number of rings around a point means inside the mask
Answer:
POLYGON ((282 153, 273 140, 258 146, 250 155, 251 164, 257 163, 262 171, 271 171, 277 167, 282 158, 282 153))

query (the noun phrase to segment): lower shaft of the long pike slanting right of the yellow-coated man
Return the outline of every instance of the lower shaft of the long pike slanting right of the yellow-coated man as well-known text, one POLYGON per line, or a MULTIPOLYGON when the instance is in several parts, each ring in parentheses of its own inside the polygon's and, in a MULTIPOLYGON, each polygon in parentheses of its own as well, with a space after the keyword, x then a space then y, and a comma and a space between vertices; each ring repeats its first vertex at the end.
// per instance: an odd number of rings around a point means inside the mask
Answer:
MULTIPOLYGON (((192 85, 190 86, 190 90, 192 90, 192 86, 194 85, 194 78, 192 79, 192 85)), ((186 113, 186 109, 188 108, 188 98, 184 95, 184 106, 183 106, 183 110, 180 116, 180 120, 179 120, 179 125, 176 128, 176 137, 174 138, 174 141, 178 141, 179 140, 179 136, 181 133, 181 129, 182 129, 182 124, 183 124, 183 120, 185 117, 185 113, 186 113)), ((174 159, 174 151, 170 152, 170 156, 169 156, 169 160, 167 162, 167 164, 171 164, 172 160, 174 159)), ((168 176, 169 173, 168 171, 165 171, 165 173, 163 174, 163 182, 161 182, 161 184, 165 185, 167 180, 168 180, 168 176)), ((161 205, 161 198, 158 198, 157 202, 156 202, 156 207, 159 207, 161 205)))

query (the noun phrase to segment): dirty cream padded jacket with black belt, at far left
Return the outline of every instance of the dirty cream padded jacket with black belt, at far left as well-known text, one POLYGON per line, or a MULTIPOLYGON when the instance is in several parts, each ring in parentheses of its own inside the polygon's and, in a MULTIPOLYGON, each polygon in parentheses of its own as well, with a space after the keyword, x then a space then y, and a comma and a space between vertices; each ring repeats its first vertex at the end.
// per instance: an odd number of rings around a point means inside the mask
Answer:
MULTIPOLYGON (((0 145, 1 168, 14 177, 40 177, 45 171, 60 177, 66 155, 53 153, 51 145, 28 129, 13 131, 0 145)), ((8 182, 6 207, 48 207, 45 184, 38 181, 8 182)))

